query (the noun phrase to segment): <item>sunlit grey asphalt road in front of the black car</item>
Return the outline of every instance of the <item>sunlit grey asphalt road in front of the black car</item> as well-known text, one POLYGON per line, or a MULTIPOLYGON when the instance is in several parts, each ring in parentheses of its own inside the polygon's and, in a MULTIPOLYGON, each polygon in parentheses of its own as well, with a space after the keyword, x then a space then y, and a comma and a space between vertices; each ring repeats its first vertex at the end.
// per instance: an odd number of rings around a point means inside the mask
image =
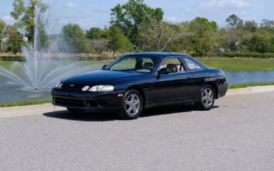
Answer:
POLYGON ((149 109, 138 120, 0 118, 0 170, 274 170, 274 92, 226 96, 211 111, 149 109))

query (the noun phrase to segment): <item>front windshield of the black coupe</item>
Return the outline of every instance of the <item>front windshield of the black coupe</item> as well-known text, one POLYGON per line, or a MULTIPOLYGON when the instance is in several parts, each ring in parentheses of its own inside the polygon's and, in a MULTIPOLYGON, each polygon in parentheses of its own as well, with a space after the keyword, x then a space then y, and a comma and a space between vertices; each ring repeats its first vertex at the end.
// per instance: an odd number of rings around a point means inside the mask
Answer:
POLYGON ((151 73, 159 60, 160 57, 126 55, 112 62, 112 64, 107 66, 105 69, 151 73))

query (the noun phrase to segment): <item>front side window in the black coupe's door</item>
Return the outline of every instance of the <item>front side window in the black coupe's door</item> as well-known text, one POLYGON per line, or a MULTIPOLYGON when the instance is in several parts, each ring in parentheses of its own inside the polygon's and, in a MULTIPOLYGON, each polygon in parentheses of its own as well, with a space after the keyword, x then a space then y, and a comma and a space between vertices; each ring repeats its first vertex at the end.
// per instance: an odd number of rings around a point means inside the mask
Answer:
POLYGON ((171 73, 181 73, 185 71, 184 66, 182 66, 181 61, 177 57, 164 60, 160 66, 160 69, 162 68, 168 68, 171 73))

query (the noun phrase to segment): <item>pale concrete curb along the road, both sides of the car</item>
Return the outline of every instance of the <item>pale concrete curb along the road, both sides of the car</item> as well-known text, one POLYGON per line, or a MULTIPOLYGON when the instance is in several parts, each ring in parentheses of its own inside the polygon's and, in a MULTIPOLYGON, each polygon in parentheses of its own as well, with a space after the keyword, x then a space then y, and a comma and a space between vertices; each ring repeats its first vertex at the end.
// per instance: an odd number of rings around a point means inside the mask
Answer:
MULTIPOLYGON (((256 86, 249 88, 229 89, 225 96, 238 96, 242 94, 254 94, 261 92, 273 92, 274 86, 256 86)), ((16 116, 29 116, 35 114, 45 114, 53 111, 66 110, 64 107, 55 107, 51 103, 43 105, 28 105, 18 107, 0 107, 0 118, 9 118, 16 116)))

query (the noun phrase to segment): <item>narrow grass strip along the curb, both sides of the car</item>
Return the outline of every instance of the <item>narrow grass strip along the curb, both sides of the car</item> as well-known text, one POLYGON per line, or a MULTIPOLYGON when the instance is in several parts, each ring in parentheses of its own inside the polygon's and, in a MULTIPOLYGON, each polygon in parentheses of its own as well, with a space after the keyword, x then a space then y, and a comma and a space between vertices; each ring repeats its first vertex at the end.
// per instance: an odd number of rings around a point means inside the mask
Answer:
MULTIPOLYGON (((253 86, 273 86, 274 82, 264 82, 264 83, 238 83, 229 85, 229 89, 236 89, 236 88, 247 88, 253 86)), ((41 100, 34 100, 34 101, 17 101, 17 102, 10 102, 10 103, 2 103, 0 107, 13 107, 13 106, 25 106, 25 105, 41 105, 45 103, 51 103, 51 98, 41 99, 41 100)))

